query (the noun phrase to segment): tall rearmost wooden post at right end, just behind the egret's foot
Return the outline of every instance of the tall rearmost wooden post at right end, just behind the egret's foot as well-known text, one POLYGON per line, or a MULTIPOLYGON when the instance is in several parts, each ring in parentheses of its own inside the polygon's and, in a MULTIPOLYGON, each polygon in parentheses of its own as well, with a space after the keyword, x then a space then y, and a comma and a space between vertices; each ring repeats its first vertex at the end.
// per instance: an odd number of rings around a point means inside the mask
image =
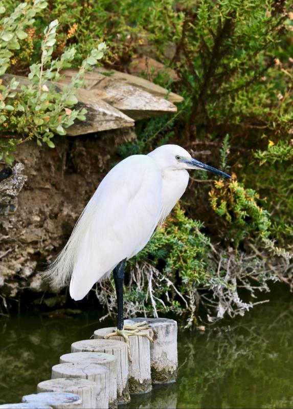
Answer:
POLYGON ((132 318, 125 324, 147 321, 155 345, 150 345, 152 383, 174 382, 177 376, 177 322, 167 318, 132 318))

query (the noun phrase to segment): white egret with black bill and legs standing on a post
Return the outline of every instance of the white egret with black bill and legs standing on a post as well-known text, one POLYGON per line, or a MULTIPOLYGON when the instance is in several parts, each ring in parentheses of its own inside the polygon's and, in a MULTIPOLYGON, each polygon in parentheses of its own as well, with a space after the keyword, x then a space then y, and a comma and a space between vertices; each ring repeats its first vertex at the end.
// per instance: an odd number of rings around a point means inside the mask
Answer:
POLYGON ((70 295, 75 300, 114 270, 118 322, 117 332, 110 335, 122 335, 126 342, 128 335, 146 334, 123 328, 125 261, 145 247, 181 198, 188 184, 187 169, 210 170, 230 178, 177 145, 163 145, 148 155, 122 160, 101 181, 69 241, 47 270, 55 286, 70 280, 70 295))

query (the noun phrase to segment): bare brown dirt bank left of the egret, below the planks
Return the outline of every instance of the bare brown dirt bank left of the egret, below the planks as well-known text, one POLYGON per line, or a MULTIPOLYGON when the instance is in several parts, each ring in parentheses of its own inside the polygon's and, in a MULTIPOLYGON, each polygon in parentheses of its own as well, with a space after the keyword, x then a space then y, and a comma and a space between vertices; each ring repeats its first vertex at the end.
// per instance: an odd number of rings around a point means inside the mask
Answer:
MULTIPOLYGON (((15 298, 24 289, 46 290, 36 270, 54 257, 69 238, 83 207, 109 168, 117 146, 133 130, 96 136, 64 137, 56 149, 29 142, 19 145, 16 162, 28 177, 17 202, 0 212, 0 296, 15 298)), ((4 165, 0 165, 0 170, 4 165)), ((1 304, 1 300, 0 300, 1 304)))

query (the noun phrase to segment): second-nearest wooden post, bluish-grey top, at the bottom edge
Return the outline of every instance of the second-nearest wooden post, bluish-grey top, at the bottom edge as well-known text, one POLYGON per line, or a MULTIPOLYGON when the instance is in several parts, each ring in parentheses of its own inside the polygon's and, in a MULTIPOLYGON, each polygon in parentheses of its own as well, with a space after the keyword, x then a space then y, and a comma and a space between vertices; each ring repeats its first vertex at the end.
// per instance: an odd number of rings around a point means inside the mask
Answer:
POLYGON ((38 407, 47 404, 54 409, 81 409, 81 399, 72 393, 42 392, 22 396, 22 402, 35 403, 38 407))

